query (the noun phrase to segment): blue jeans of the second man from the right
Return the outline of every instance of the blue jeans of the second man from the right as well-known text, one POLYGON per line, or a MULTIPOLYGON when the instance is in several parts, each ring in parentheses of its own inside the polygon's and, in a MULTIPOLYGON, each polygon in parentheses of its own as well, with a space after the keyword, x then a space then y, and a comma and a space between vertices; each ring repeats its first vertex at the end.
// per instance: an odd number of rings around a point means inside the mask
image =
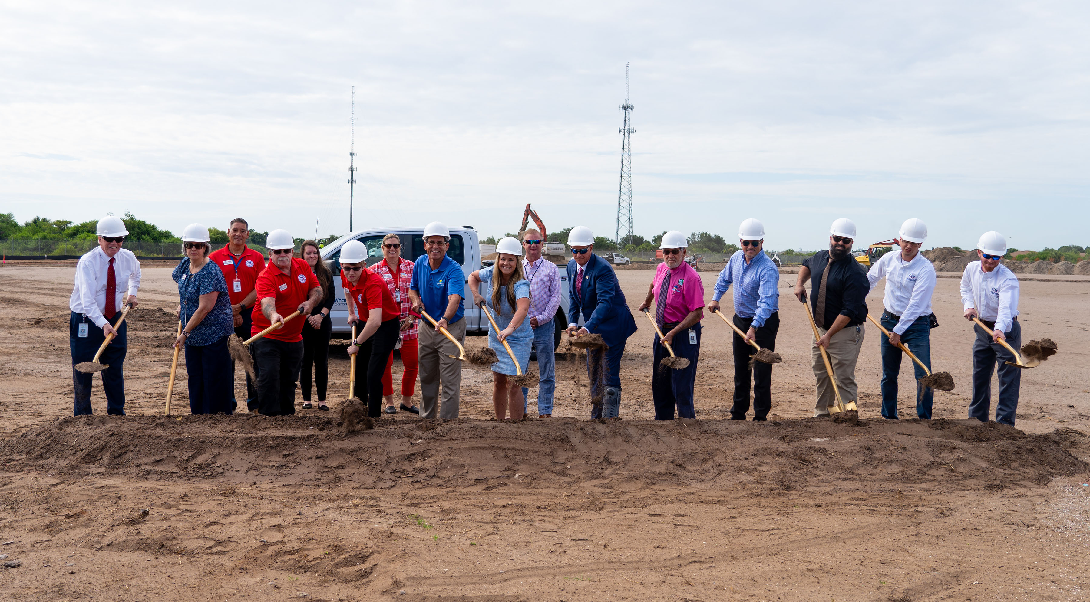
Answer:
MULTIPOLYGON (((882 312, 882 328, 893 332, 897 325, 897 318, 888 311, 882 312)), ((912 325, 905 329, 900 335, 900 342, 912 352, 916 357, 931 369, 931 323, 927 316, 920 316, 912 321, 912 325)), ((900 373, 900 360, 905 355, 900 347, 889 344, 889 337, 882 334, 882 417, 896 420, 897 416, 897 376, 900 373)), ((911 361, 911 358, 909 358, 911 361)), ((920 418, 931 418, 931 405, 935 398, 935 390, 930 386, 922 386, 920 379, 928 376, 920 368, 919 364, 912 361, 916 374, 916 415, 920 418)))

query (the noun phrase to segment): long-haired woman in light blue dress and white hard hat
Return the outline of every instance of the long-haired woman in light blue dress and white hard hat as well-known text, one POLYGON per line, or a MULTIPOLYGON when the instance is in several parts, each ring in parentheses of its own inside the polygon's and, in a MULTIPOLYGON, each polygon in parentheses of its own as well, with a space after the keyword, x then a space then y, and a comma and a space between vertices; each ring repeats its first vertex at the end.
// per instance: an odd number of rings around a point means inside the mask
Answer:
POLYGON ((511 346, 522 373, 526 373, 530 349, 534 343, 534 330, 526 320, 530 311, 530 282, 523 278, 522 244, 519 241, 508 236, 496 245, 496 250, 499 256, 495 266, 470 274, 470 291, 473 292, 473 303, 477 306, 487 305, 484 310, 492 312, 500 329, 499 332, 494 332, 492 325, 488 327, 488 346, 499 358, 492 366, 492 403, 496 408, 497 419, 507 418, 509 410, 513 420, 522 418, 525 400, 522 397, 522 389, 508 382, 507 377, 513 377, 517 371, 511 356, 504 348, 504 341, 511 346), (488 298, 480 294, 482 282, 492 283, 488 298))

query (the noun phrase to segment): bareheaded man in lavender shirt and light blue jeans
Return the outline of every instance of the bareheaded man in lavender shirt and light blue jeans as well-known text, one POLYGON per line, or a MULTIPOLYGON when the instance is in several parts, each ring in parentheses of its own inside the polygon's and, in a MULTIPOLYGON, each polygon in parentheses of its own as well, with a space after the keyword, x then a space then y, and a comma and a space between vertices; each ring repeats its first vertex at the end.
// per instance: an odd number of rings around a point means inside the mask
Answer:
MULTIPOLYGON (((534 351, 537 352, 537 417, 553 417, 553 396, 556 391, 556 339, 553 317, 560 307, 560 270, 556 263, 542 257, 542 233, 528 230, 522 233, 522 271, 530 281, 530 325, 534 329, 534 351)), ((530 390, 522 388, 526 400, 530 390)), ((525 409, 523 409, 525 414, 525 409)))

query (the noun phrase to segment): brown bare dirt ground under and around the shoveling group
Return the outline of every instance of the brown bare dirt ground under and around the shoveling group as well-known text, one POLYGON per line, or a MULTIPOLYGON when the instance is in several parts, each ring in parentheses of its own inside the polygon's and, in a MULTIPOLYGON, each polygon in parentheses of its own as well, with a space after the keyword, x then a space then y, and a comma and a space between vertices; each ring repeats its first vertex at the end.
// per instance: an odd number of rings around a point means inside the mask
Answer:
MULTIPOLYGON (((40 265, 0 268, 4 599, 1083 600, 1090 588, 1090 278, 1022 282, 1024 336, 1059 354, 1024 372, 1017 429, 965 419, 972 333, 956 274, 934 302, 933 364, 957 383, 936 392, 935 420, 879 415, 873 327, 860 422, 810 418, 810 327, 785 273, 767 422, 726 420, 730 331, 708 316, 698 420, 651 420, 652 331, 638 320, 621 420, 589 421, 560 360, 552 420, 536 419, 535 393, 530 420, 489 420, 488 372, 467 368, 461 419, 399 413, 341 438, 335 413, 180 415, 184 366, 164 417, 177 288, 162 266, 145 267, 130 312, 130 416, 104 415, 96 379, 99 414, 71 417, 73 269, 40 265)), ((714 274, 701 275, 710 295, 714 274)), ((634 309, 650 275, 618 278, 634 309)), ((912 416, 908 364, 900 400, 912 416)))

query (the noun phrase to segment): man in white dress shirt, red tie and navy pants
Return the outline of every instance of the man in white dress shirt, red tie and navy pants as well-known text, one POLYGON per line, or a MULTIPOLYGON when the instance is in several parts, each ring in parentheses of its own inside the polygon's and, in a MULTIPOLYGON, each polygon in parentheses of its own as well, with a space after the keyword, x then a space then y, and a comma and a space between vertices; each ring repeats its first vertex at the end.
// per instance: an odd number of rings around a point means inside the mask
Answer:
POLYGON ((124 361, 129 324, 122 322, 114 331, 113 322, 125 305, 136 307, 136 293, 141 282, 140 261, 131 250, 121 248, 129 235, 121 218, 107 216, 98 220, 96 231, 98 246, 87 251, 76 263, 75 283, 69 298, 69 308, 72 310, 69 317, 69 348, 72 352, 72 384, 75 390, 72 416, 93 414, 93 374, 76 370, 75 365, 94 359, 109 334, 114 334, 114 337, 99 358, 109 366, 102 370, 106 413, 124 416, 124 361), (118 284, 121 286, 118 287, 118 284))

